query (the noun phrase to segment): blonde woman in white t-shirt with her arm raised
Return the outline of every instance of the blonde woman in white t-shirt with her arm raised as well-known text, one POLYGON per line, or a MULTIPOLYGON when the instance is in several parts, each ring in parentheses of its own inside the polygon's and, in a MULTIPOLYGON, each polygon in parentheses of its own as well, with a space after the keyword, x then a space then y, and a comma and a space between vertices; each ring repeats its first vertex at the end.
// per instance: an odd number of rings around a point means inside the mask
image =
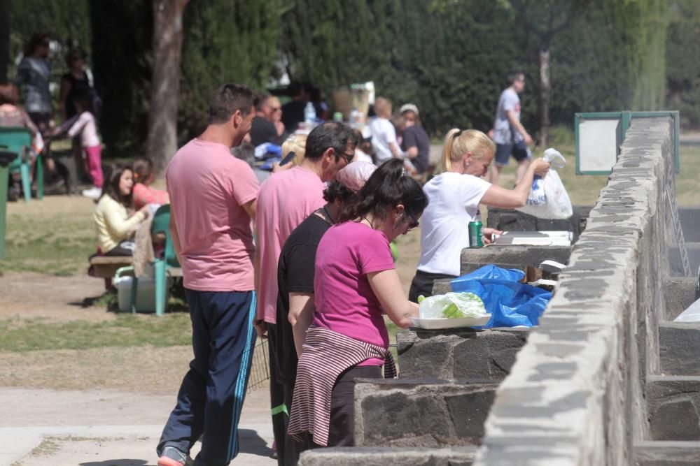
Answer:
MULTIPOLYGON (((421 220, 421 260, 411 283, 409 300, 431 296, 433 282, 459 275, 462 249, 469 246, 468 224, 479 212, 479 204, 491 207, 522 207, 533 176, 545 175, 549 163, 533 161, 514 189, 505 189, 482 179, 489 169, 496 145, 481 131, 451 129, 444 138, 444 172, 423 186, 430 204, 421 220)), ((485 241, 498 233, 484 228, 485 241)))

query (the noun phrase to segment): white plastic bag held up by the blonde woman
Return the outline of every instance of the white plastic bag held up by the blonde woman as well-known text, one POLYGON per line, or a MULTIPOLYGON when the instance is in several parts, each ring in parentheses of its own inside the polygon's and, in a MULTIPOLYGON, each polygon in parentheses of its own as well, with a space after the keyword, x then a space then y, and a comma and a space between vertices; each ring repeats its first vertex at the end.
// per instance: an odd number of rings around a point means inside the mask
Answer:
POLYGON ((540 219, 568 219, 573 214, 571 199, 556 173, 556 168, 563 168, 566 160, 552 147, 545 150, 543 159, 550 163, 547 175, 544 178, 535 175, 527 203, 517 210, 540 219))

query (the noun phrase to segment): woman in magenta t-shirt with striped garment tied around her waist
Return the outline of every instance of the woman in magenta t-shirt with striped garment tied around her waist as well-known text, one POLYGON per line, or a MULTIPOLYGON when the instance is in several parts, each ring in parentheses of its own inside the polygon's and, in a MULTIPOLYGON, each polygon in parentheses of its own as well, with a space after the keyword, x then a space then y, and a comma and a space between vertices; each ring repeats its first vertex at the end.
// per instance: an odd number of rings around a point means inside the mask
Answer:
POLYGON ((395 374, 384 312, 406 328, 418 306, 402 292, 389 242, 417 228, 426 205, 403 162, 391 159, 372 173, 355 202, 344 205, 340 223, 318 243, 314 318, 297 365, 289 420, 295 439, 352 446, 355 379, 381 378, 385 360, 384 377, 395 374))

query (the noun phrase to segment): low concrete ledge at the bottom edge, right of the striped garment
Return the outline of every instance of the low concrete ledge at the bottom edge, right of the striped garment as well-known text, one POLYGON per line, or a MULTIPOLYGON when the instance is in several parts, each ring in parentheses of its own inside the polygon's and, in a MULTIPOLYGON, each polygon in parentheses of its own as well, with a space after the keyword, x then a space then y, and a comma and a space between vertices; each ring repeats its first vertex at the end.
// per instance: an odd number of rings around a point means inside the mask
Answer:
POLYGON ((300 466, 471 466, 476 447, 444 449, 344 447, 304 451, 300 466))

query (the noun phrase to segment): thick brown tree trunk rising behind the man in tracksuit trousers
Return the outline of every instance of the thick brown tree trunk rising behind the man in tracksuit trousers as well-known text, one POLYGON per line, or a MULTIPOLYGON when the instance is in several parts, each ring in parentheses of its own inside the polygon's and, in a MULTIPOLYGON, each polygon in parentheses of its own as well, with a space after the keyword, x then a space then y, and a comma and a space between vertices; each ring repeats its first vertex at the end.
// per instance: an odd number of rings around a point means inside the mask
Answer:
POLYGON ((153 0, 153 78, 146 152, 162 173, 177 151, 182 13, 189 0, 153 0))

